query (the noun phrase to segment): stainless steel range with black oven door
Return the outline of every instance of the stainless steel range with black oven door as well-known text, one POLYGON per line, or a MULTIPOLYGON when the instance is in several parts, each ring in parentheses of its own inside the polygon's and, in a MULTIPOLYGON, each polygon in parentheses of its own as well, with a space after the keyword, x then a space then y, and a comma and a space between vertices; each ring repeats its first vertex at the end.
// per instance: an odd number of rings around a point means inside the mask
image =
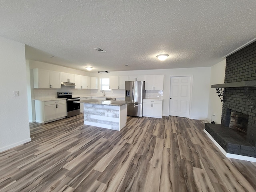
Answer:
POLYGON ((67 117, 80 114, 80 104, 74 101, 80 101, 80 97, 72 97, 72 92, 58 92, 58 98, 67 99, 67 117))

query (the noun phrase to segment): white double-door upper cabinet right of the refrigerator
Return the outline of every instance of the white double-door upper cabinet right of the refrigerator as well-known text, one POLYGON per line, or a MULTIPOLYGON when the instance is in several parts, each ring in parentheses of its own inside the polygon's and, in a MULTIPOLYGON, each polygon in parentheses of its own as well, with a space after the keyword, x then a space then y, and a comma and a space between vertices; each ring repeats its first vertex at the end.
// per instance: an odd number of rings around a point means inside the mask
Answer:
POLYGON ((145 75, 145 90, 164 90, 164 75, 145 75))

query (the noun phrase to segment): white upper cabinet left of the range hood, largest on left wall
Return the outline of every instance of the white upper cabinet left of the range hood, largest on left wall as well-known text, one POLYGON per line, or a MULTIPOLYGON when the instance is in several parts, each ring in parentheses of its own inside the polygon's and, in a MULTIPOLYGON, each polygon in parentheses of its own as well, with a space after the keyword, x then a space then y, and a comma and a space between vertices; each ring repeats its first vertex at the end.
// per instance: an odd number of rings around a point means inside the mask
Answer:
POLYGON ((60 72, 50 71, 44 69, 33 69, 34 74, 34 88, 40 89, 60 89, 60 72))

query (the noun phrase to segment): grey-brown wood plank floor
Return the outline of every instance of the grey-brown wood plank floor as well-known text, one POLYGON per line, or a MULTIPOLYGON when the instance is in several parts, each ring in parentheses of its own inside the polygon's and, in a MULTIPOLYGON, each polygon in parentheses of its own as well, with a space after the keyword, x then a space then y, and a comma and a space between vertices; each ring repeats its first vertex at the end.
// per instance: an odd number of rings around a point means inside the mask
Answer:
POLYGON ((82 114, 30 124, 0 153, 0 192, 255 192, 256 164, 226 158, 200 120, 128 117, 120 132, 82 114))

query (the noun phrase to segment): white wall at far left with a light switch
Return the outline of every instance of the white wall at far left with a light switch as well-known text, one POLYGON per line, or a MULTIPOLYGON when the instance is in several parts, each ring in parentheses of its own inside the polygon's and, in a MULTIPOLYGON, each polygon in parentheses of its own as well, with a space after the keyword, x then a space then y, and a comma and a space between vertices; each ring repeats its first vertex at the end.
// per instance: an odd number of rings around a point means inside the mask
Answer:
POLYGON ((0 152, 31 140, 25 45, 0 37, 0 152), (14 97, 13 91, 19 91, 14 97))

